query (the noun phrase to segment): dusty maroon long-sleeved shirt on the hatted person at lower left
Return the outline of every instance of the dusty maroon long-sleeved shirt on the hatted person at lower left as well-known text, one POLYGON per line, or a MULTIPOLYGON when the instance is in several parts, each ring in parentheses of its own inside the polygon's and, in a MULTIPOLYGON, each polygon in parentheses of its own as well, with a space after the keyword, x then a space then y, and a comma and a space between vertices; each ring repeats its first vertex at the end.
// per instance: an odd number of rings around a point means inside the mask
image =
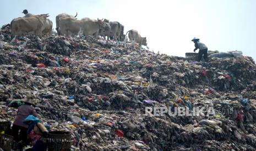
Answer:
POLYGON ((24 104, 18 108, 17 117, 14 120, 14 125, 22 126, 28 128, 29 126, 26 124, 23 124, 23 120, 28 117, 28 115, 34 115, 34 117, 37 117, 36 109, 28 104, 24 104))

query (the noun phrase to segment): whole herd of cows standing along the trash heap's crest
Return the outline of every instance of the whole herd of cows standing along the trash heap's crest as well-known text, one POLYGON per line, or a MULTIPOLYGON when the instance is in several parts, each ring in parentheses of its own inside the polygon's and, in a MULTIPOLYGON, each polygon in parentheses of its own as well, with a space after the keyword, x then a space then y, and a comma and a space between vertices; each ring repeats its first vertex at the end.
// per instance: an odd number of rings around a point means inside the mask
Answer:
MULTIPOLYGON (((48 14, 33 15, 24 10, 22 18, 15 18, 10 23, 12 35, 23 36, 32 34, 35 36, 51 36, 52 21, 47 19, 48 14)), ((84 35, 102 36, 108 40, 123 41, 128 34, 130 40, 139 45, 147 45, 146 37, 141 37, 138 31, 130 30, 124 34, 124 26, 118 21, 107 19, 94 20, 90 18, 77 19, 75 16, 62 13, 56 16, 56 31, 58 35, 84 35)))

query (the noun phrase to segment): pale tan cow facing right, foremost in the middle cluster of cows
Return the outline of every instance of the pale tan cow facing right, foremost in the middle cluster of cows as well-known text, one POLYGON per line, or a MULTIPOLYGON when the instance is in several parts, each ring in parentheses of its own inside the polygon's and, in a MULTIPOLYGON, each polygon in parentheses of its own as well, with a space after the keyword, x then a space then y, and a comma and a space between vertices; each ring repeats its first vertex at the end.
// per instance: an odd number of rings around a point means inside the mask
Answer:
POLYGON ((85 36, 99 36, 100 31, 104 33, 111 31, 111 27, 102 20, 91 20, 89 18, 82 20, 61 18, 59 29, 61 33, 66 35, 76 35, 81 30, 85 36))

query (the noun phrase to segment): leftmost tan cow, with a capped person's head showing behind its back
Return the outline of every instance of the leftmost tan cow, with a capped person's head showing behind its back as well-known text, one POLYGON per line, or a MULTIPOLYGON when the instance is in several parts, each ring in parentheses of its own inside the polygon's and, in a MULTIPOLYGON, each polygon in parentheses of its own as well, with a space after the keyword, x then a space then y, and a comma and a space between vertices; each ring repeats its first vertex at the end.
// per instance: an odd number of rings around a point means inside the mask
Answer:
POLYGON ((24 34, 35 34, 41 36, 43 25, 48 14, 34 15, 30 18, 16 18, 11 22, 12 35, 23 36, 24 34))

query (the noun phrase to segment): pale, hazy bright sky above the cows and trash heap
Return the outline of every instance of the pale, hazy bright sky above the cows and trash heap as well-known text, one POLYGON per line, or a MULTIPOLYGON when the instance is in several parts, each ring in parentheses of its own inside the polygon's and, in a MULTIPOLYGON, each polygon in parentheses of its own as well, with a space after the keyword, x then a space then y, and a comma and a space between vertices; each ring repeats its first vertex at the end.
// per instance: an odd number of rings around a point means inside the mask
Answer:
POLYGON ((31 14, 50 15, 53 27, 61 13, 77 18, 119 21, 124 32, 137 30, 155 52, 185 56, 193 52, 193 37, 208 50, 239 50, 256 60, 255 0, 1 0, 0 26, 31 14))

